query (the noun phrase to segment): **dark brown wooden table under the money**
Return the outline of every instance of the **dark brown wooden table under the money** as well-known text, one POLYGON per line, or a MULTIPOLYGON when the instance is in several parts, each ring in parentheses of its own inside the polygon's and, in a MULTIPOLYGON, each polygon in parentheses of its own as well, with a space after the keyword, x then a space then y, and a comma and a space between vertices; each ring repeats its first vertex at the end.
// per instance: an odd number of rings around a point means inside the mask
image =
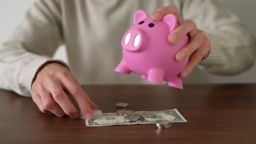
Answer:
POLYGON ((256 143, 256 85, 84 86, 103 112, 124 101, 135 111, 177 108, 187 123, 86 127, 82 119, 43 114, 31 98, 0 90, 0 143, 256 143))

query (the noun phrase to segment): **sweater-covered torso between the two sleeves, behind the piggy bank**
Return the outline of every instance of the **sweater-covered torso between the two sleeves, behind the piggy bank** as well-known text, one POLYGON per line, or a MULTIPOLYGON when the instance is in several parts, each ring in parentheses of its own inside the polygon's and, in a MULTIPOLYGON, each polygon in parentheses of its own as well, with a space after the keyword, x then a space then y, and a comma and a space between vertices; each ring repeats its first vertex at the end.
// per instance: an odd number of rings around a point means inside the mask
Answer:
POLYGON ((133 15, 181 1, 81 0, 61 1, 62 27, 72 73, 80 83, 148 83, 138 74, 114 72, 122 59, 121 39, 133 25, 133 15))

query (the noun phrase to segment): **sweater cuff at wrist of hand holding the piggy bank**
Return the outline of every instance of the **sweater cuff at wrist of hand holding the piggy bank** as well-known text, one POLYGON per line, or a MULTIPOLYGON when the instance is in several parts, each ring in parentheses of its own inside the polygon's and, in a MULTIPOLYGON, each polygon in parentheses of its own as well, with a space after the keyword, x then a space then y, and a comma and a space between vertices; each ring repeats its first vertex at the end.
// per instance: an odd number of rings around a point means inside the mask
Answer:
POLYGON ((208 65, 219 65, 222 62, 222 47, 218 40, 211 39, 211 50, 209 55, 203 59, 199 65, 207 67, 208 65))

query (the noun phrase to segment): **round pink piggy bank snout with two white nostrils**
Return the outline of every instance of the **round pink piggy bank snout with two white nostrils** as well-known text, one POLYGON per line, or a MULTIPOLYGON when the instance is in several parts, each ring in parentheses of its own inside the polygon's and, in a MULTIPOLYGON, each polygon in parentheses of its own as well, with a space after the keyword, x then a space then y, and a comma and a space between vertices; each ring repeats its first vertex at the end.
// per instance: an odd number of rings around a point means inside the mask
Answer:
POLYGON ((142 47, 143 33, 138 29, 130 29, 127 31, 122 40, 122 46, 129 51, 136 51, 142 47))

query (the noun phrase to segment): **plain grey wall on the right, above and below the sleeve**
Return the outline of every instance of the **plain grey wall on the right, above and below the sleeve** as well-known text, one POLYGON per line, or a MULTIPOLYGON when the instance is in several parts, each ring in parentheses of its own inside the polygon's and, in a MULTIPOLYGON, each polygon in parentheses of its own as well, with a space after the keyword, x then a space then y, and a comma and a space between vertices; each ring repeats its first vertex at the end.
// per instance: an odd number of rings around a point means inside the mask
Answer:
MULTIPOLYGON (((251 29, 256 38, 256 1, 255 0, 218 0, 224 7, 231 10, 245 25, 251 29)), ((256 63, 250 70, 236 76, 215 76, 203 73, 199 69, 188 77, 187 81, 211 82, 211 83, 255 83, 256 82, 256 63)), ((186 80, 185 80, 186 81, 186 80)))

